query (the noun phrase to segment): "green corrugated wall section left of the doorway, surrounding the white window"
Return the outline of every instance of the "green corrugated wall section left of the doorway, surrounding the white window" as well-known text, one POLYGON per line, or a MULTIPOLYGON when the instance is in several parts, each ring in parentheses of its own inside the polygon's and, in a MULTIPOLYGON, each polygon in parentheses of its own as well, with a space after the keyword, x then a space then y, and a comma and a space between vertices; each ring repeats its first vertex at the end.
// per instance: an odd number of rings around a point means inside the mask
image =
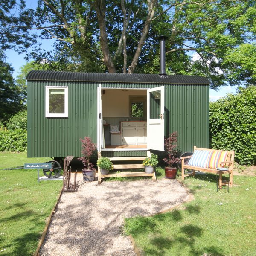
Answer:
POLYGON ((97 141, 97 87, 81 82, 28 82, 28 157, 80 156, 79 138, 97 141), (45 117, 45 86, 68 86, 68 118, 45 117))

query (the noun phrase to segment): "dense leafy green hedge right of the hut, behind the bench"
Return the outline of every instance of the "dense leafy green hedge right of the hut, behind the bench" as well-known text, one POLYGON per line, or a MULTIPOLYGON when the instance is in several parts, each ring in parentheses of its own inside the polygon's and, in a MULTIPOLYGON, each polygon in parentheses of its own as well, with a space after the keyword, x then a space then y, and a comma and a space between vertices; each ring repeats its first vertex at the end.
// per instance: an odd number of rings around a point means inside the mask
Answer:
POLYGON ((256 164, 256 87, 210 103, 211 147, 234 150, 237 163, 256 164))

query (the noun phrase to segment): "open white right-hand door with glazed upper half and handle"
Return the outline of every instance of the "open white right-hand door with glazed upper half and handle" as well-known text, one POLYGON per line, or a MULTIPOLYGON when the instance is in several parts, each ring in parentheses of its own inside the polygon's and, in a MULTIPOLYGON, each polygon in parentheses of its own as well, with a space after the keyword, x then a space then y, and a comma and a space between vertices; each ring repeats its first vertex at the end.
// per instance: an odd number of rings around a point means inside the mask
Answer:
POLYGON ((164 151, 164 86, 147 90, 147 144, 164 151))

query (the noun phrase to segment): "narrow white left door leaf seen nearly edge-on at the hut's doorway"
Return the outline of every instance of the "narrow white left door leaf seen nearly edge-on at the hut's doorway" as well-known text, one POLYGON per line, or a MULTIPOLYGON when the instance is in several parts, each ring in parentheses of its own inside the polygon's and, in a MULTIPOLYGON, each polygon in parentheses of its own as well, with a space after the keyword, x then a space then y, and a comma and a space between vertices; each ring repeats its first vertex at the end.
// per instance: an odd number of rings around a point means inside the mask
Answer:
POLYGON ((104 129, 102 121, 102 99, 101 99, 101 84, 97 89, 97 113, 98 113, 98 123, 97 123, 97 150, 100 153, 101 149, 105 147, 104 140, 104 129))

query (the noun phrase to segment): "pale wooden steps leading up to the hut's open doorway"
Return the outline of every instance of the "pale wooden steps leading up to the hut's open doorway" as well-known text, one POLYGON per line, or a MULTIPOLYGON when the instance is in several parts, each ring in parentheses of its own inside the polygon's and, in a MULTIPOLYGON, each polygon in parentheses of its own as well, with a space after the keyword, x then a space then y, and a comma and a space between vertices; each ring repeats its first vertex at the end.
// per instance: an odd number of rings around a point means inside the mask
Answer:
MULTIPOLYGON (((148 151, 150 154, 150 152, 148 151)), ((100 156, 99 156, 100 157, 100 156)), ((144 166, 142 164, 142 161, 146 157, 109 157, 111 162, 113 163, 114 170, 116 169, 144 169, 144 166), (115 162, 120 162, 118 164, 115 164, 115 162), (125 162, 125 163, 122 163, 125 162), (129 163, 129 162, 140 162, 140 163, 129 163)), ((98 183, 101 183, 102 178, 105 177, 139 177, 139 176, 152 176, 152 179, 154 181, 157 180, 155 172, 148 174, 145 171, 143 172, 114 172, 111 174, 101 174, 100 168, 98 167, 98 183)))

